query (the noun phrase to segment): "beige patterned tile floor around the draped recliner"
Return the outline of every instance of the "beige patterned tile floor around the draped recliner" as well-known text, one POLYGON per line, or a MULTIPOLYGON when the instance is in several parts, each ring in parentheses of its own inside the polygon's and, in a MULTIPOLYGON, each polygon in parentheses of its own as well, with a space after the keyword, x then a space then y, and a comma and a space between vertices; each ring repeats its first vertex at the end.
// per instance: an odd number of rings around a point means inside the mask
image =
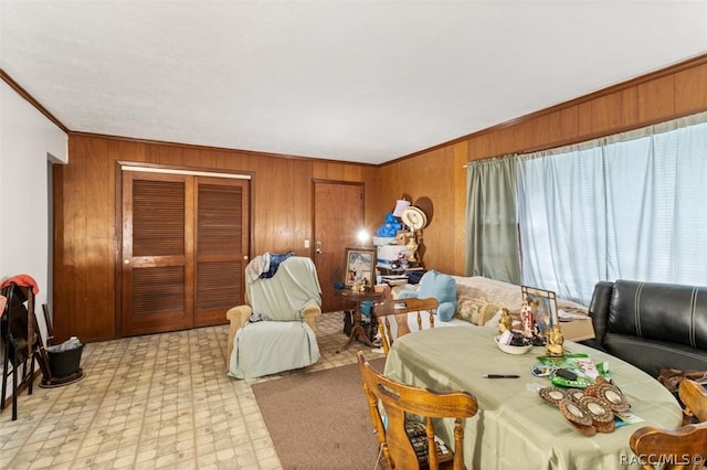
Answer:
MULTIPOLYGON (((318 363, 356 362, 342 313, 317 323, 318 363)), ((228 327, 88 343, 81 382, 18 396, 0 414, 2 469, 281 469, 253 397, 258 381, 226 375, 228 327)))

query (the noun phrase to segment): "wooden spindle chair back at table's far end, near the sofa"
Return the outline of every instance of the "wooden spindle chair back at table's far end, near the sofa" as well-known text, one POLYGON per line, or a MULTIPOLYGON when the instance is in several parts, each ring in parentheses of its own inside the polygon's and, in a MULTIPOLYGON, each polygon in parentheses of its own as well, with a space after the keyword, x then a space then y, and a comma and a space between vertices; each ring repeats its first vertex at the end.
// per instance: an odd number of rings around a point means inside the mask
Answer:
POLYGON ((373 305, 373 314, 378 319, 378 330, 380 331, 381 345, 383 352, 388 354, 397 338, 410 333, 408 325, 408 314, 416 314, 418 331, 422 330, 423 314, 428 314, 430 328, 434 328, 434 313, 440 303, 436 299, 388 299, 373 305), (390 318, 393 317, 391 320, 390 318), (391 328, 391 321, 395 324, 395 331, 391 328))

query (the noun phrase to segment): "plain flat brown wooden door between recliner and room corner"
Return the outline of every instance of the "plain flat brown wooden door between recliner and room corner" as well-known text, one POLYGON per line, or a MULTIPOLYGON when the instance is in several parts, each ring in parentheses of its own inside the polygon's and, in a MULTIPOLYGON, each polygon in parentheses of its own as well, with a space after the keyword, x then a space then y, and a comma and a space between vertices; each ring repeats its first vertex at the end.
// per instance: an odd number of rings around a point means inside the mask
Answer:
POLYGON ((344 282, 345 250, 358 246, 363 227, 363 184, 314 182, 315 265, 321 285, 321 310, 349 309, 350 302, 334 296, 334 282, 344 282))

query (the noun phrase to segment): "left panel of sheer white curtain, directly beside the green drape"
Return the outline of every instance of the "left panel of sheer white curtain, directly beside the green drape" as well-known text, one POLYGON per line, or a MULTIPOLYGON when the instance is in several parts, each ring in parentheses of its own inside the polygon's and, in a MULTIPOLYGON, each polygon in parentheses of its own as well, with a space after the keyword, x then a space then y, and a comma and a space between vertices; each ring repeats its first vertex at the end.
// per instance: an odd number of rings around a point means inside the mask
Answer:
POLYGON ((604 182, 599 147, 523 158, 518 224, 523 284, 584 302, 604 278, 604 182), (590 290, 591 293, 591 290, 590 290))

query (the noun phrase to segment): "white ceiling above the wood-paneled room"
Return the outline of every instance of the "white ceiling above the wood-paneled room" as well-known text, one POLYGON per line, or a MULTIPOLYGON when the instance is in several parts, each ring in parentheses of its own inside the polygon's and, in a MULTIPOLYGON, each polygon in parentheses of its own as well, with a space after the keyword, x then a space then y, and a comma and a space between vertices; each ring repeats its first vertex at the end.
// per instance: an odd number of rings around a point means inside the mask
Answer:
POLYGON ((707 52, 707 0, 0 0, 68 129, 381 163, 707 52))

